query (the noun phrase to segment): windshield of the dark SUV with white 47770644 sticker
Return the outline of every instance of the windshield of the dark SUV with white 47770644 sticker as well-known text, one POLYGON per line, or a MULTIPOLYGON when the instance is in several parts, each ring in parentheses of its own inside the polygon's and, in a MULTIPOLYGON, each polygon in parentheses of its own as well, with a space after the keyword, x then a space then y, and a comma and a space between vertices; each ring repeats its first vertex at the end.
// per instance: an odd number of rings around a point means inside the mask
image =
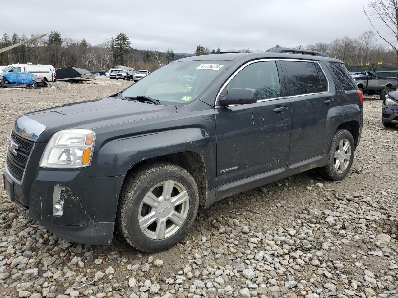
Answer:
POLYGON ((165 101, 164 104, 187 104, 197 99, 217 75, 231 64, 231 61, 203 60, 169 63, 134 83, 121 95, 147 96, 165 101))

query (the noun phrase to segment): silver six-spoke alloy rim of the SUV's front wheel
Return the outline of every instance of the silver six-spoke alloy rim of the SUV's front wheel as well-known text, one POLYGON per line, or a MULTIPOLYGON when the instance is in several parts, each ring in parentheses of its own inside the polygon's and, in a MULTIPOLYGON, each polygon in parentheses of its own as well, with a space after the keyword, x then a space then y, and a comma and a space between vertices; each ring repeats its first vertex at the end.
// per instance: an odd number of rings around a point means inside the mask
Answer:
POLYGON ((189 210, 186 188, 174 180, 154 186, 144 197, 139 209, 139 226, 151 239, 165 239, 183 225, 189 210))

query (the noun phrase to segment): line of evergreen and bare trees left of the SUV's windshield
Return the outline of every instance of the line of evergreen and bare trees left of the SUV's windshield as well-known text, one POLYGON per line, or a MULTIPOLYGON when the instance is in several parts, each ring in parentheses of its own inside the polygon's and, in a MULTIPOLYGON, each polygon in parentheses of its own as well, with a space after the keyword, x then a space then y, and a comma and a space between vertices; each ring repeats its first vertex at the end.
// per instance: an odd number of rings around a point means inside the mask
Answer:
MULTIPOLYGON (((34 35, 31 35, 34 37, 34 35)), ((25 35, 13 33, 0 38, 0 48, 27 40, 25 35)), ((123 32, 92 45, 86 39, 77 40, 61 37, 58 31, 51 31, 46 37, 31 41, 0 54, 0 65, 12 63, 51 64, 55 67, 78 67, 91 71, 108 70, 112 66, 131 66, 136 70, 155 70, 164 64, 183 56, 172 49, 165 53, 156 49, 138 50, 131 47, 131 41, 123 32)))

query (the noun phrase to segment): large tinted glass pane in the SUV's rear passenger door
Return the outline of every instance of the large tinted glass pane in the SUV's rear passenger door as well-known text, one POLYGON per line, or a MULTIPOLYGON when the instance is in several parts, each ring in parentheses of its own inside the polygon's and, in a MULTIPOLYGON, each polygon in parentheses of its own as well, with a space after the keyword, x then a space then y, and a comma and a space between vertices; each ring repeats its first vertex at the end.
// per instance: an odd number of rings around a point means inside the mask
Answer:
POLYGON ((322 92, 321 80, 314 62, 285 61, 289 96, 322 92))

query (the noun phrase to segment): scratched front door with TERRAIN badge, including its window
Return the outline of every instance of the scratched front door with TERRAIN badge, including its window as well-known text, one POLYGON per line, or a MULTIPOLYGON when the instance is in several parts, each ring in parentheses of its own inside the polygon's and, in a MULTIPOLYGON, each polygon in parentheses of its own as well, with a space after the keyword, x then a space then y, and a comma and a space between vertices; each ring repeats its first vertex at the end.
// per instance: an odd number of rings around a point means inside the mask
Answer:
POLYGON ((280 64, 273 60, 249 63, 229 79, 222 94, 232 88, 252 88, 258 101, 215 108, 217 186, 281 168, 285 174, 291 106, 281 89, 280 64))

